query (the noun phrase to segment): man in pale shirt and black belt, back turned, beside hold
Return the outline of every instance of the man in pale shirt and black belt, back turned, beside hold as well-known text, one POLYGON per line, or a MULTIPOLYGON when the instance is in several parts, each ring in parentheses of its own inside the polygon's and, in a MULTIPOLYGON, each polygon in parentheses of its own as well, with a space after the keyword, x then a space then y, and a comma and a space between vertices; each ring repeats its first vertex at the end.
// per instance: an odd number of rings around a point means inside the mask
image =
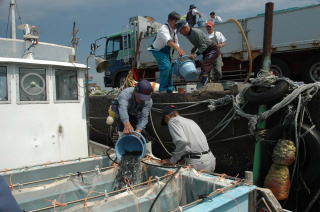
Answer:
POLYGON ((179 115, 173 105, 163 109, 163 125, 168 125, 175 150, 170 159, 162 160, 163 164, 176 164, 184 161, 197 170, 213 172, 216 158, 209 149, 207 138, 199 125, 191 119, 179 115))

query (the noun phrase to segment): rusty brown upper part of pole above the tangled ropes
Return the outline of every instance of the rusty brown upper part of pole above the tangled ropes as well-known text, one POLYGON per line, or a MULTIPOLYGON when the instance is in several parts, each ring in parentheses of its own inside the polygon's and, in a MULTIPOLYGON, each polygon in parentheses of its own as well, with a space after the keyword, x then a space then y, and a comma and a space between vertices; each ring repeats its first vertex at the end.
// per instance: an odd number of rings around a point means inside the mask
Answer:
POLYGON ((263 64, 262 71, 267 73, 271 66, 272 53, 272 25, 273 25, 273 3, 268 2, 265 7, 264 33, 263 33, 263 64))

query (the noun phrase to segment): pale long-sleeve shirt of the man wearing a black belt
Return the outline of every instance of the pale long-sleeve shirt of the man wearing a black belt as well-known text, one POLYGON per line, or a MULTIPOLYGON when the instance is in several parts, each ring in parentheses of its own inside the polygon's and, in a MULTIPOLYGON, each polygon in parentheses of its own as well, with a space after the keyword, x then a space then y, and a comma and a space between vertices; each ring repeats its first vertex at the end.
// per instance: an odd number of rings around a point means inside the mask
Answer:
POLYGON ((207 138, 197 123, 182 116, 171 118, 169 132, 175 145, 170 161, 176 163, 188 153, 201 153, 209 150, 207 138))

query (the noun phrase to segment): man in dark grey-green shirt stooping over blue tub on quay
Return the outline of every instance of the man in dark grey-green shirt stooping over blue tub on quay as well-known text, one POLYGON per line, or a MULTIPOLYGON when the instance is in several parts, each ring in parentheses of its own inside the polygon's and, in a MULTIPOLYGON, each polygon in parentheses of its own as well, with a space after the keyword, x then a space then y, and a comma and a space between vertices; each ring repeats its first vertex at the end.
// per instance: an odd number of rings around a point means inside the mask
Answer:
POLYGON ((215 40, 209 39, 208 35, 202 30, 190 27, 183 20, 177 23, 177 32, 180 32, 193 44, 194 47, 189 56, 191 59, 195 60, 198 55, 203 55, 201 83, 205 85, 210 80, 218 81, 219 79, 209 79, 213 65, 220 55, 220 50, 215 40))

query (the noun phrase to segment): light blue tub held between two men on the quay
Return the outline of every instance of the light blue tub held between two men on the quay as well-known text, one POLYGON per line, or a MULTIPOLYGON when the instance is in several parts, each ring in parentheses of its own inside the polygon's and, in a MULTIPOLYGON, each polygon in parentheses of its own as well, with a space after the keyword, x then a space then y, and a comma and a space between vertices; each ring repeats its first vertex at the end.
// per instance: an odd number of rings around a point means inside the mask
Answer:
POLYGON ((196 80, 199 77, 199 72, 193 60, 189 59, 188 56, 177 59, 172 68, 175 75, 183 77, 187 81, 196 80))

